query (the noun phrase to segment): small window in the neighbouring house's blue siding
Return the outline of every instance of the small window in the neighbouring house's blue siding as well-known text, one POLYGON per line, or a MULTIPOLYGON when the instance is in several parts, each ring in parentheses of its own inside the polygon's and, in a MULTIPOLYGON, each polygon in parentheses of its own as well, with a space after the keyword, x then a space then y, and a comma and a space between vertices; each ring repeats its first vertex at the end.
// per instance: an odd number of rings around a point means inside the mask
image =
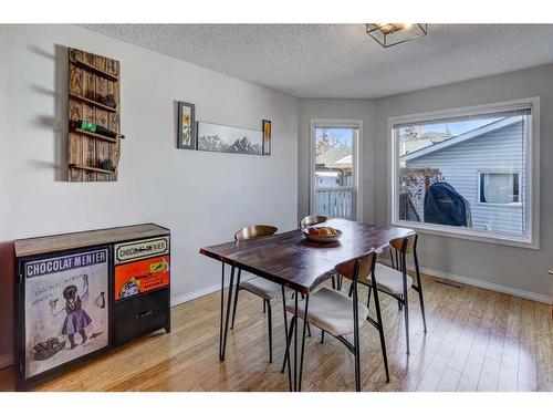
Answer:
POLYGON ((479 173, 481 204, 513 205, 520 201, 519 173, 479 173))

